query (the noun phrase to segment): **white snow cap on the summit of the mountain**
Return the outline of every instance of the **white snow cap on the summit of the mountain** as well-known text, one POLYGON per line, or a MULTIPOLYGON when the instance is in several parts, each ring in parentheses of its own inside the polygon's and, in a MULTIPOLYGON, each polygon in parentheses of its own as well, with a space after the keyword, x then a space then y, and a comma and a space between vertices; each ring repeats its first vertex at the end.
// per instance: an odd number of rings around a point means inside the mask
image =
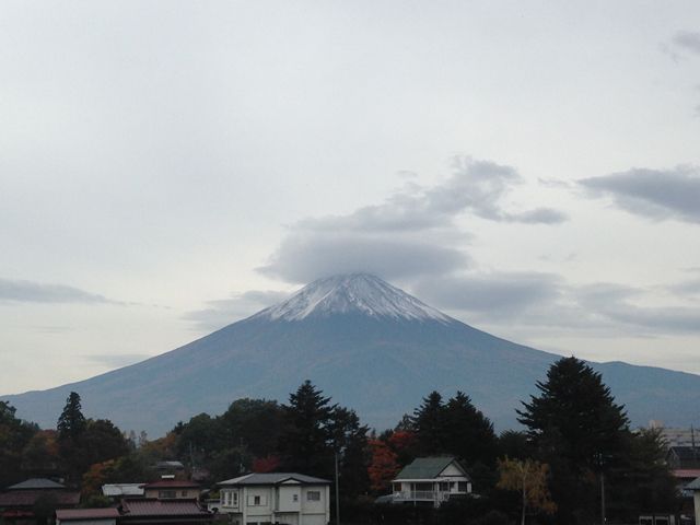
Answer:
POLYGON ((361 313, 394 319, 453 319, 418 299, 368 273, 334 276, 307 284, 289 300, 259 312, 254 318, 301 320, 310 316, 361 313))

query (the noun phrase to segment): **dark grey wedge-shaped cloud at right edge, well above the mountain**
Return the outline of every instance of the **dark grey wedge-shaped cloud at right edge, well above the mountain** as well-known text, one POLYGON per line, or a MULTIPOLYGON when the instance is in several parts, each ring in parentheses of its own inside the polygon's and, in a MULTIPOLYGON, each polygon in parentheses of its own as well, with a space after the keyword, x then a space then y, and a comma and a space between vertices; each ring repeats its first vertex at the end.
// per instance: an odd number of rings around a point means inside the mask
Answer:
POLYGON ((651 219, 700 222, 700 170, 633 168, 579 182, 593 196, 607 196, 632 213, 651 219))

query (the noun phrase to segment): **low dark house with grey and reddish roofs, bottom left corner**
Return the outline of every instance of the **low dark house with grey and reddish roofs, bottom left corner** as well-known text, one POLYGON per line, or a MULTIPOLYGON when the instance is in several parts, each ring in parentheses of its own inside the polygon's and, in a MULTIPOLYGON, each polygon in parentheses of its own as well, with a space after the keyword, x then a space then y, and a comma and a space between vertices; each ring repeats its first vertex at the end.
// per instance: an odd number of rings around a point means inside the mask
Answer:
POLYGON ((34 509, 40 502, 56 509, 74 509, 80 503, 80 492, 68 490, 50 479, 27 479, 0 492, 0 521, 16 524, 34 522, 34 509))

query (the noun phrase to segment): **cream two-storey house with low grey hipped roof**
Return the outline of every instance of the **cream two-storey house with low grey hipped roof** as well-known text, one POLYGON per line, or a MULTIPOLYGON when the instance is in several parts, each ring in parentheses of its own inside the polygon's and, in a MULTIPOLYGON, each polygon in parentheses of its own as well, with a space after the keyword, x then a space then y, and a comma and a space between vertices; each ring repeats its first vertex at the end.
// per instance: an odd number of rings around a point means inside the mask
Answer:
POLYGON ((326 525, 330 481, 296 472, 248 474, 217 483, 218 511, 233 525, 326 525))

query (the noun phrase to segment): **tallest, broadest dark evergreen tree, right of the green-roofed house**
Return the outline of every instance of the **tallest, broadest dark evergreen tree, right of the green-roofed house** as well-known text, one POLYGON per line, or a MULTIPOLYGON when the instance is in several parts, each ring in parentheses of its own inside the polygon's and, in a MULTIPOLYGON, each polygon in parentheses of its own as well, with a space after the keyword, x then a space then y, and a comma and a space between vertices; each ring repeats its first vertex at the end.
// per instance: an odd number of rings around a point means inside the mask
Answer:
POLYGON ((552 364, 537 389, 517 411, 518 421, 551 468, 558 521, 590 523, 599 513, 599 474, 619 464, 629 435, 623 407, 600 374, 575 358, 552 364))

